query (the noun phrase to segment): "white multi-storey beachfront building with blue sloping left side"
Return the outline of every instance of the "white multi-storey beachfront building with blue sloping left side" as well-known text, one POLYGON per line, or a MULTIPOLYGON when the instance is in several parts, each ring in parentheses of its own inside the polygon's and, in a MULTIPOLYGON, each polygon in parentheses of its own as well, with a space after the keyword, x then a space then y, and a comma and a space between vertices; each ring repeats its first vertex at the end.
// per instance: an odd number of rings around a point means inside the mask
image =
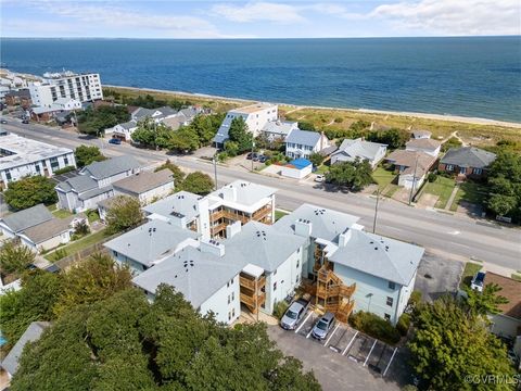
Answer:
POLYGON ((214 137, 214 143, 223 147, 228 140, 228 130, 234 118, 242 117, 247 125, 247 130, 257 137, 268 122, 277 121, 279 106, 271 103, 255 103, 240 109, 230 110, 214 137))

